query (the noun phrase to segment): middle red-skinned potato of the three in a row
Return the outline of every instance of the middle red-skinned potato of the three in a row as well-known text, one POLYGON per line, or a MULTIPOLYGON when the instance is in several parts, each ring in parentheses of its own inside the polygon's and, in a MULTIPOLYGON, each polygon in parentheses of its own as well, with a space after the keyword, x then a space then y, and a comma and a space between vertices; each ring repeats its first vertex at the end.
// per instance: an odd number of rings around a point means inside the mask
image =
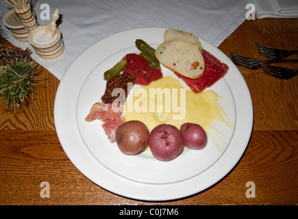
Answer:
POLYGON ((158 125, 150 133, 149 148, 156 159, 174 159, 183 150, 183 139, 179 129, 169 124, 158 125))

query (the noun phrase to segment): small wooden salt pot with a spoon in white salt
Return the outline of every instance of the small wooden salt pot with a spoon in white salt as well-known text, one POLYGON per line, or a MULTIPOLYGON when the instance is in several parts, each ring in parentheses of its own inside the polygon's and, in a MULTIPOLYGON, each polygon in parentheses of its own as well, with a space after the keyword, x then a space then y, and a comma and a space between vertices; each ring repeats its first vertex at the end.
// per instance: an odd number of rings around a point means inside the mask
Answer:
POLYGON ((52 21, 47 25, 40 25, 28 34, 28 41, 34 51, 44 60, 55 60, 64 51, 64 42, 60 29, 55 24, 59 18, 59 10, 52 13, 52 21))

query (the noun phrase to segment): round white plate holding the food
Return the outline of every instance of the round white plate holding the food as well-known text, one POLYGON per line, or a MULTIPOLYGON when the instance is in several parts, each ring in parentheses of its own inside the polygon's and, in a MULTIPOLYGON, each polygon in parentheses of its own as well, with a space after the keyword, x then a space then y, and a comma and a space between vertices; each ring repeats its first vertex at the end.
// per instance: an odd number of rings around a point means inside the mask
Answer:
MULTIPOLYGON (((185 149, 171 162, 160 162, 149 151, 136 156, 123 155, 116 143, 108 141, 100 121, 84 122, 90 107, 104 92, 104 70, 125 54, 137 51, 134 46, 137 38, 156 47, 163 41, 164 30, 129 29, 93 44, 71 64, 55 97, 55 127, 71 162, 102 188, 145 201, 183 198, 218 182, 243 155, 253 125, 251 96, 238 68, 219 49, 202 39, 203 49, 229 66, 227 75, 210 88, 222 96, 221 104, 234 123, 234 129, 229 131, 216 127, 227 138, 221 145, 223 153, 208 141, 204 151, 185 149), (197 156, 201 159, 195 159, 197 156)), ((163 67, 162 72, 171 74, 163 67)))

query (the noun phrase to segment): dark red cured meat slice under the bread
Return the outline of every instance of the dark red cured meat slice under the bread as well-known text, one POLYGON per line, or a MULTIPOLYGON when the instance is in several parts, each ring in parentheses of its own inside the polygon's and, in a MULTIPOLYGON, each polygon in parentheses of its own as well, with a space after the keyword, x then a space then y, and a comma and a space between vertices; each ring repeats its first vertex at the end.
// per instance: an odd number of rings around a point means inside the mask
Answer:
POLYGON ((216 81, 225 76, 229 67, 223 62, 219 61, 216 57, 203 51, 203 58, 205 60, 205 72, 199 79, 190 79, 175 73, 180 79, 182 79, 186 85, 193 90, 193 92, 202 92, 206 88, 212 86, 216 81))

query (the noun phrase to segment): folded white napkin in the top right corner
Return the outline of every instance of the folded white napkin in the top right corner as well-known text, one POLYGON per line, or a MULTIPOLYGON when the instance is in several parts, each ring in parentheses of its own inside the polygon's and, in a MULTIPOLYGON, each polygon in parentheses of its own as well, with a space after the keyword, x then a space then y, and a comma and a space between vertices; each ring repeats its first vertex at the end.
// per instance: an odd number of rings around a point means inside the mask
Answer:
POLYGON ((257 18, 298 18, 297 0, 252 0, 257 18))

